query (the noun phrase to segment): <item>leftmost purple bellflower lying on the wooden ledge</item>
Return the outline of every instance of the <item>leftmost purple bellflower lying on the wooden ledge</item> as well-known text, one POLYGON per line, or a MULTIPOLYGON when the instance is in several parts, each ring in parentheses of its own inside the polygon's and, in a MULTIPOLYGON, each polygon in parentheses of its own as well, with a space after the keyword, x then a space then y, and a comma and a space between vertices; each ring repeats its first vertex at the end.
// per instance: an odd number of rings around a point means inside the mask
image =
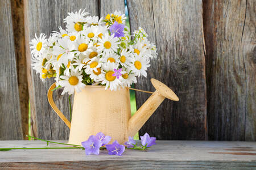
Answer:
POLYGON ((100 153, 101 141, 99 141, 95 136, 91 135, 87 141, 82 142, 82 146, 85 148, 86 155, 100 153))

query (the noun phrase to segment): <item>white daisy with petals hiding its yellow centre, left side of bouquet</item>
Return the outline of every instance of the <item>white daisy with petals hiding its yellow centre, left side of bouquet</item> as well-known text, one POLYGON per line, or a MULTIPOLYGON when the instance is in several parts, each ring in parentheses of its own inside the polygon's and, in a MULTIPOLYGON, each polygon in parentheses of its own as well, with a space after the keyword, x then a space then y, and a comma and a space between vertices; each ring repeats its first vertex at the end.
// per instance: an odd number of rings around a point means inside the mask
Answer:
POLYGON ((59 45, 53 46, 53 55, 57 56, 57 61, 64 63, 65 66, 68 65, 69 59, 73 59, 75 53, 72 50, 75 49, 75 45, 72 44, 72 41, 64 38, 58 40, 59 45))

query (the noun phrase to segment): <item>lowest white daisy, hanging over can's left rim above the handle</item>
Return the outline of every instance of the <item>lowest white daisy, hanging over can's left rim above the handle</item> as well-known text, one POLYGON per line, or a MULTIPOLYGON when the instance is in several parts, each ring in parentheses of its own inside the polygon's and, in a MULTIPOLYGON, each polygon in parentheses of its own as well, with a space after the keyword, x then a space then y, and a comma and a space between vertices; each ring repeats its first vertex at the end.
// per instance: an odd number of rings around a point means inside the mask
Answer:
POLYGON ((66 92, 68 92, 68 95, 72 95, 75 90, 80 92, 80 89, 85 87, 85 84, 82 83, 82 71, 73 71, 71 69, 70 75, 61 75, 60 79, 58 84, 64 87, 61 95, 64 95, 66 92))

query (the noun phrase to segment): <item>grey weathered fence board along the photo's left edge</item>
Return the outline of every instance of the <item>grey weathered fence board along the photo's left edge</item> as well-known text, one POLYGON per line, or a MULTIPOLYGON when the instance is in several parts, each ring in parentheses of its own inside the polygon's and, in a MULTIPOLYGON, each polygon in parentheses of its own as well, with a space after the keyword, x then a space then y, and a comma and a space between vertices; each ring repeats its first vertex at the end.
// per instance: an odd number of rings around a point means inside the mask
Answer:
POLYGON ((0 140, 22 139, 11 3, 0 1, 0 140))

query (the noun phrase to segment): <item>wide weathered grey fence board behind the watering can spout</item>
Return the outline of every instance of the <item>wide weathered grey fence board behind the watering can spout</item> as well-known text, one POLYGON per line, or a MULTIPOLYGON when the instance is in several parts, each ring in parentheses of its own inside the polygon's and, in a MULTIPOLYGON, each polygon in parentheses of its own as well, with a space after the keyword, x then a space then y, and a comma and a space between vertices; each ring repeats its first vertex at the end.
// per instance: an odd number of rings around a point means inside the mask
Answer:
MULTIPOLYGON (((201 1, 127 1, 131 31, 143 27, 159 56, 136 88, 154 91, 150 78, 180 101, 164 100, 142 127, 157 139, 207 139, 203 6, 201 1)), ((137 108, 149 95, 136 93, 137 108)))

